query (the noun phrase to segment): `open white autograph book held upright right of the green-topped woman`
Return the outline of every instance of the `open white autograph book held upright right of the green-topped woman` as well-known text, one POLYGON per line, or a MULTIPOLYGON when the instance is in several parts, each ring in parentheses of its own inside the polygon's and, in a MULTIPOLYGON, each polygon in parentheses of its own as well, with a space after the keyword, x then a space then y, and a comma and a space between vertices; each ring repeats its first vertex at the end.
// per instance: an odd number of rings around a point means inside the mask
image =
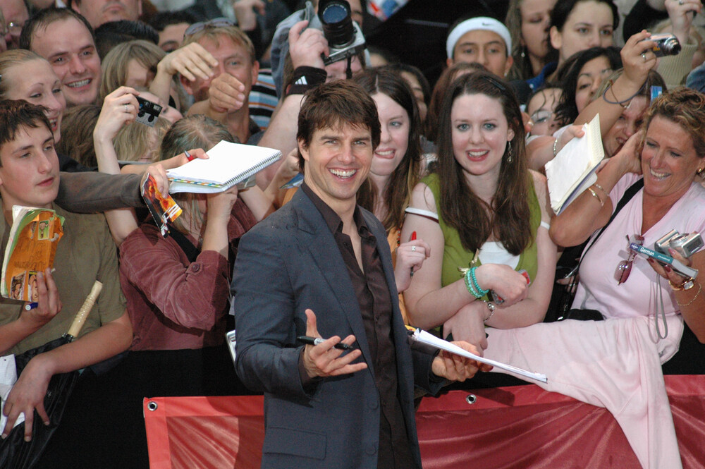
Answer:
POLYGON ((585 135, 570 140, 545 166, 551 208, 556 214, 563 212, 570 202, 596 183, 595 172, 605 157, 600 115, 583 124, 582 130, 585 135))

